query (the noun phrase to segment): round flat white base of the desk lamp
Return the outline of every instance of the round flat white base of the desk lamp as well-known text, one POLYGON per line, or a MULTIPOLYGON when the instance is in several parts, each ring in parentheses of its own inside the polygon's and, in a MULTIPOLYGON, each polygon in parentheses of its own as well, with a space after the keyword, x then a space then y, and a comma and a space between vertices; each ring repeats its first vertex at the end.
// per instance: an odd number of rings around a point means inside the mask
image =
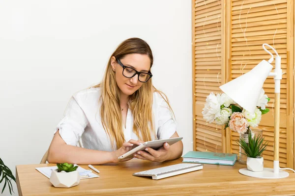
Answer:
POLYGON ((285 178, 289 176, 288 172, 280 170, 278 173, 273 172, 273 168, 264 168, 263 172, 252 172, 247 168, 240 169, 238 171, 243 175, 257 178, 275 179, 275 178, 285 178))

